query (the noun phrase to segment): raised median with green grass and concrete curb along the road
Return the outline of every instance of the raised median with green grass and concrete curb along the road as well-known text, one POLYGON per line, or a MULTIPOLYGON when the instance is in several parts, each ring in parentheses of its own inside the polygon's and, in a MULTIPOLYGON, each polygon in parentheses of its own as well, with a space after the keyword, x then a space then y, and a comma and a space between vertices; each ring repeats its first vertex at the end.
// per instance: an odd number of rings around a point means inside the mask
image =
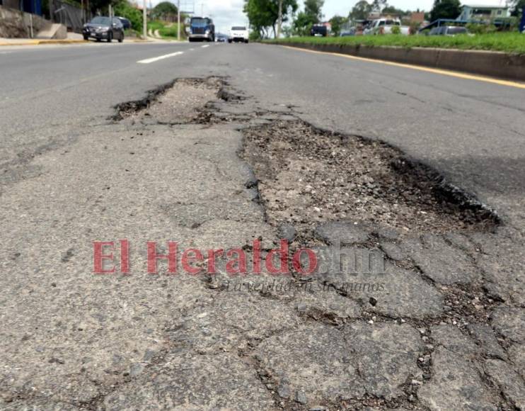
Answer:
POLYGON ((514 33, 456 37, 306 37, 263 43, 525 81, 525 35, 514 33))

